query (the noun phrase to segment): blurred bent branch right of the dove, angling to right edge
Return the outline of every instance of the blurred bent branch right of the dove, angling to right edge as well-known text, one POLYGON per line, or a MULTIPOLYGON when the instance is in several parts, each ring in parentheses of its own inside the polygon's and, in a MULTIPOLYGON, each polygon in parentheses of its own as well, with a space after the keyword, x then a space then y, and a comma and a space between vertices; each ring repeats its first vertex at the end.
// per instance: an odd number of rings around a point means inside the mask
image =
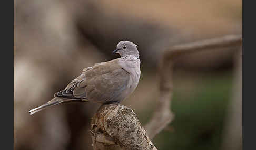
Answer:
POLYGON ((160 133, 174 118, 171 112, 171 100, 173 93, 172 66, 173 58, 177 56, 209 50, 214 48, 226 48, 242 45, 242 35, 227 35, 220 38, 206 39, 188 44, 176 45, 166 50, 159 62, 159 100, 152 119, 146 124, 145 129, 152 139, 160 133))

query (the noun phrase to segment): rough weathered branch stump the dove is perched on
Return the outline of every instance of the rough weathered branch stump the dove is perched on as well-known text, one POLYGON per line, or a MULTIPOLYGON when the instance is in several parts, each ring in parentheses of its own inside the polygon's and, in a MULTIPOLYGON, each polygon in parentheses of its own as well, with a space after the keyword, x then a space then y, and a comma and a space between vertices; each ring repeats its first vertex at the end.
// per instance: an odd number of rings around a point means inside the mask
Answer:
POLYGON ((94 149, 156 149, 133 110, 121 104, 102 105, 90 132, 94 149))

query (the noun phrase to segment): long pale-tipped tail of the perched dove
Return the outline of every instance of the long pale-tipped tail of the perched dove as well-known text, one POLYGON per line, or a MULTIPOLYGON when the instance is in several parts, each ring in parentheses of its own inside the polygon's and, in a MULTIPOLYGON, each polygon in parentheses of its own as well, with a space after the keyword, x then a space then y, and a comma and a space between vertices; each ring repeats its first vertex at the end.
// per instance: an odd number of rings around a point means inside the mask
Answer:
POLYGON ((54 105, 57 105, 57 104, 60 104, 60 103, 66 103, 66 102, 87 102, 87 101, 82 101, 82 100, 63 100, 63 99, 60 99, 60 98, 53 98, 51 101, 48 101, 47 103, 41 105, 41 106, 38 106, 37 108, 34 108, 32 110, 29 110, 29 113, 30 115, 38 112, 38 111, 42 111, 46 108, 49 108, 50 106, 54 106, 54 105))

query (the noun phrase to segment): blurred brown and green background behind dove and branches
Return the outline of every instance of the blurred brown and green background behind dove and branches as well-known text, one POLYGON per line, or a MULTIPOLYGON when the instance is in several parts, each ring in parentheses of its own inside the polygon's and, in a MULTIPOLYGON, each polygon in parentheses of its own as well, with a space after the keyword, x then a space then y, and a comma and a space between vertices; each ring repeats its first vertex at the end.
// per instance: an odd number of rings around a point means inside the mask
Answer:
MULTIPOLYGON (((242 33, 241 0, 16 0, 14 9, 16 150, 93 148, 88 131, 99 104, 28 111, 51 100, 83 68, 119 57, 111 53, 119 41, 139 45, 140 82, 122 104, 145 125, 159 97, 157 62, 164 50, 242 33)), ((240 52, 214 49, 175 61, 175 119, 153 139, 158 149, 242 149, 240 52)))

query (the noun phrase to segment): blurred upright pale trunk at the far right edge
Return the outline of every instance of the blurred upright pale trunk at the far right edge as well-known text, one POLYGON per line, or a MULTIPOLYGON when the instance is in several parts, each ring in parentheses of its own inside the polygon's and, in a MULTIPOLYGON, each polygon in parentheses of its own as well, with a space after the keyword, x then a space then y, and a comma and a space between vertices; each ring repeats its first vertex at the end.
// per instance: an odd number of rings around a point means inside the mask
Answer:
POLYGON ((228 107, 221 149, 242 149, 242 48, 235 57, 235 78, 228 107))

